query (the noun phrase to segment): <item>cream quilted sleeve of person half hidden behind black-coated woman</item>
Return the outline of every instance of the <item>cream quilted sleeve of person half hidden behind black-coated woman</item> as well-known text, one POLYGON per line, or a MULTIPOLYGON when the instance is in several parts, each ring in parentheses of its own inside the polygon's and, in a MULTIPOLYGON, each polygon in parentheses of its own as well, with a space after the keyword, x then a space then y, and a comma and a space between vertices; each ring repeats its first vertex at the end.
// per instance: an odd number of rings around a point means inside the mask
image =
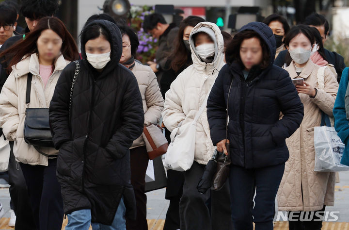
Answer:
POLYGON ((145 90, 145 102, 148 110, 144 114, 144 124, 146 126, 157 124, 163 110, 164 99, 162 98, 156 75, 150 68, 149 82, 145 90))

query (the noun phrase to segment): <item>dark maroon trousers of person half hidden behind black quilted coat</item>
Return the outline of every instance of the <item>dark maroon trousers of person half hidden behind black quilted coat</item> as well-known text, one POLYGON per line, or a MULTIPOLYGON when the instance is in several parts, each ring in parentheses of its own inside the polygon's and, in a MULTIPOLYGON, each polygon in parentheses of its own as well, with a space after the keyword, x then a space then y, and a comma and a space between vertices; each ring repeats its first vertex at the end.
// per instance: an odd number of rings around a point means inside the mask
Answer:
POLYGON ((146 201, 147 197, 144 193, 145 172, 148 167, 148 153, 145 146, 130 149, 131 162, 131 184, 133 186, 136 205, 137 217, 136 221, 126 219, 127 230, 147 230, 148 223, 146 220, 146 201))

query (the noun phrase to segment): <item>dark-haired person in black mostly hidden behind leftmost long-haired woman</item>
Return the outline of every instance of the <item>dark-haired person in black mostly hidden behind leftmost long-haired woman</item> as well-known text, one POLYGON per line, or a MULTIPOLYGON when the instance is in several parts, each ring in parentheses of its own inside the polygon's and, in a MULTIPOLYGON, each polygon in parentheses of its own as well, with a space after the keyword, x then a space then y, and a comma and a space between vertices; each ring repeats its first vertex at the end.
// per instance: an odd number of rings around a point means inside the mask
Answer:
MULTIPOLYGON (((6 4, 12 4, 10 2, 12 1, 6 1, 6 4)), ((57 0, 46 0, 45 3, 43 3, 41 0, 22 0, 20 13, 25 16, 27 27, 23 31, 24 34, 19 34, 7 39, 6 42, 1 46, 0 52, 10 48, 20 39, 24 39, 25 34, 34 29, 40 18, 45 16, 53 16, 57 10, 57 0)), ((6 58, 9 58, 6 60, 6 62, 5 58, 0 59, 0 91, 9 75, 6 68, 11 61, 11 57, 6 58)), ((27 185, 24 180, 22 170, 19 164, 16 162, 15 156, 13 155, 13 145, 13 142, 10 142, 11 152, 8 174, 11 208, 14 209, 16 214, 16 230, 35 230, 36 228, 33 221, 33 214, 29 204, 27 185)))

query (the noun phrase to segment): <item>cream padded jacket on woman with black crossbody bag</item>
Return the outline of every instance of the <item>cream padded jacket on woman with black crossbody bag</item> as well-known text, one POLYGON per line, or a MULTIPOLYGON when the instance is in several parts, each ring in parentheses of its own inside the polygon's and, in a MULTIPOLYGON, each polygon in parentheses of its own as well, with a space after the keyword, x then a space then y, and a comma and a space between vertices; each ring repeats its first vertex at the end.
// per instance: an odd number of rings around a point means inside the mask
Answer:
MULTIPOLYGON (((48 108, 63 68, 70 61, 64 60, 61 54, 54 64, 54 70, 45 87, 39 74, 39 59, 36 53, 22 59, 12 66, 0 94, 0 127, 9 141, 14 143, 14 155, 17 162, 31 165, 48 165, 48 157, 24 141, 23 130, 25 121, 27 76, 32 73, 30 108, 48 108)), ((41 151, 54 155, 55 148, 41 148, 41 151)))

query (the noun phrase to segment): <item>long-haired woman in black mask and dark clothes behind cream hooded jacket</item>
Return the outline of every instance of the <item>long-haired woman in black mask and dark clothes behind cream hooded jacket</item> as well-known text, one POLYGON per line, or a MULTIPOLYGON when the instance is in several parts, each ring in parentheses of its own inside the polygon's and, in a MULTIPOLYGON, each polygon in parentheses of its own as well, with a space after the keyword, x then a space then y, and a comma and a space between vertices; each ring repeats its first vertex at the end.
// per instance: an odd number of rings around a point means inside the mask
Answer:
MULTIPOLYGON (((205 20, 202 17, 189 16, 180 23, 178 35, 175 39, 175 48, 166 62, 168 68, 160 81, 160 90, 163 98, 165 98, 166 92, 170 89, 171 83, 178 74, 192 64, 189 35, 192 29, 203 21, 205 20)), ((170 134, 171 132, 165 127, 165 136, 169 143, 171 143, 170 134)), ((183 172, 167 170, 165 198, 170 200, 170 206, 166 213, 164 230, 180 229, 179 200, 182 197, 183 183, 183 172)))

